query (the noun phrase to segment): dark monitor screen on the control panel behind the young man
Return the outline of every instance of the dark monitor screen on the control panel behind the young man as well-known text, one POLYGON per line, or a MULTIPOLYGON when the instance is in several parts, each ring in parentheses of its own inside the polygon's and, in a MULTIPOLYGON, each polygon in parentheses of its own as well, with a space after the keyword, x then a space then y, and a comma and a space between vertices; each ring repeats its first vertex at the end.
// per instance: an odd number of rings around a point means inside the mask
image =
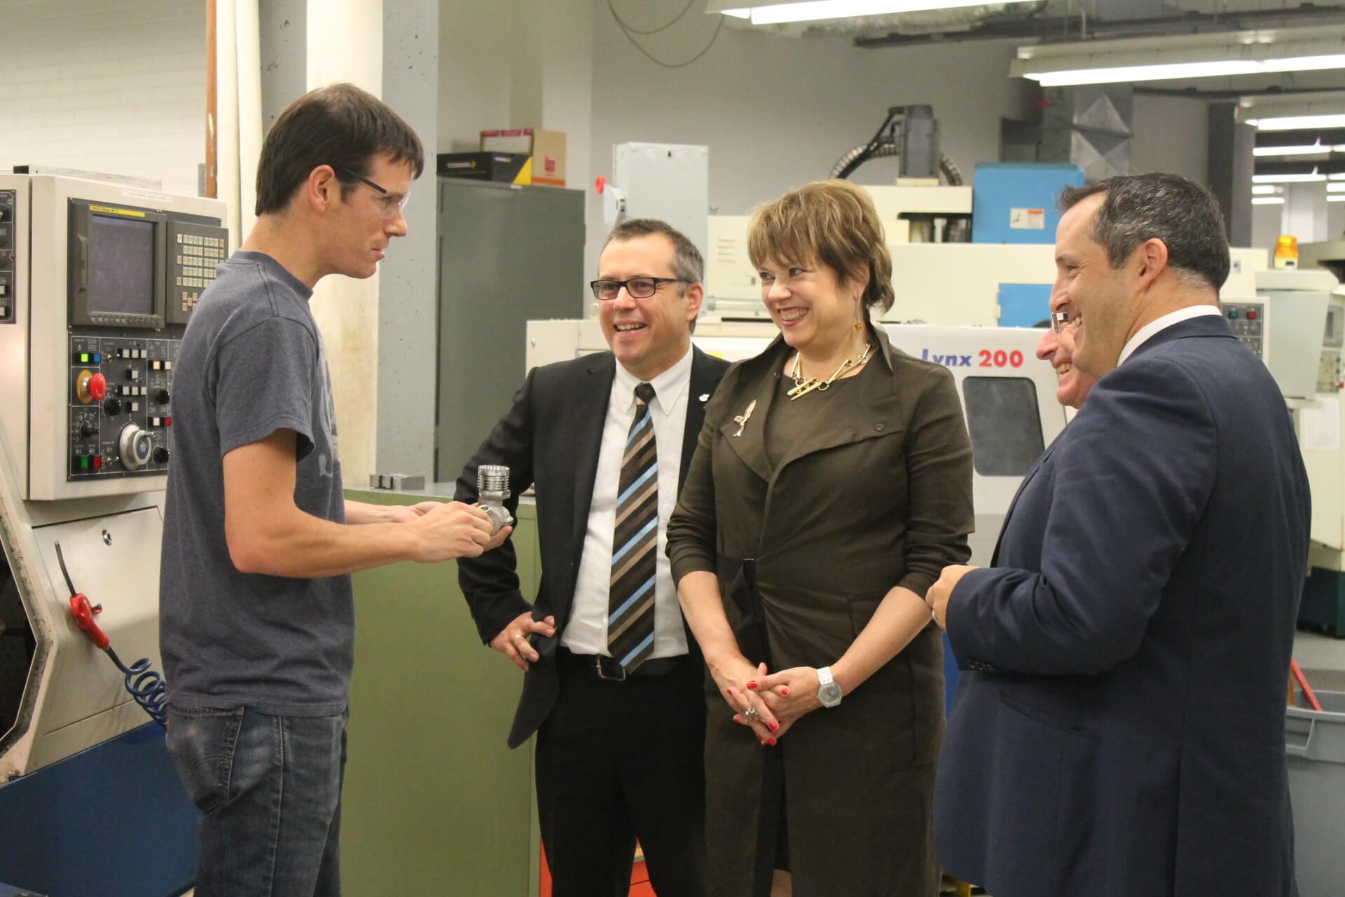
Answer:
POLYGON ((155 312, 155 223, 93 215, 89 241, 89 311, 113 315, 155 312))

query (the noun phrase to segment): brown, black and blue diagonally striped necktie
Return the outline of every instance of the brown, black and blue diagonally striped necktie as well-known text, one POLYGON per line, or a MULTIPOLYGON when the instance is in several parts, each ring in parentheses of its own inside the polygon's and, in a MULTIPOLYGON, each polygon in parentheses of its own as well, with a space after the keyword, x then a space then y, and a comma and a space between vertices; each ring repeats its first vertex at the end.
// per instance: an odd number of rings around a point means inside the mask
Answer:
POLYGON ((635 421, 625 437, 612 539, 607 647, 627 671, 654 651, 654 580, 659 546, 659 455, 650 401, 654 387, 635 387, 635 421))

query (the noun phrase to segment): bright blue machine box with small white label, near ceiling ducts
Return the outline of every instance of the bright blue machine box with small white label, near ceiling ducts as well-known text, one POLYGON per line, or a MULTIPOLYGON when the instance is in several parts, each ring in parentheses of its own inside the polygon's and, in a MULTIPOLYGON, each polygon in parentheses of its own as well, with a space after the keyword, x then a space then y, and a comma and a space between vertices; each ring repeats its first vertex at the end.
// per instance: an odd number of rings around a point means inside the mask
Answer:
POLYGON ((1083 186, 1084 169, 1079 165, 978 164, 971 190, 971 242, 1056 242, 1056 198, 1065 187, 1083 186))

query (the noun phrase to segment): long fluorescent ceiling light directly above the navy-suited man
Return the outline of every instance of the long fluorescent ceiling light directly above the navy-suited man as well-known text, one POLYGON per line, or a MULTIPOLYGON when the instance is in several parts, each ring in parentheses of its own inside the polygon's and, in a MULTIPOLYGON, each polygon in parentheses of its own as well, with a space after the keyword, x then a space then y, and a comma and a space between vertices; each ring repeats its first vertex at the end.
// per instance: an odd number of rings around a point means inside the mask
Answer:
POLYGON ((1009 74, 1044 87, 1345 69, 1345 28, 1124 38, 1018 47, 1009 74))

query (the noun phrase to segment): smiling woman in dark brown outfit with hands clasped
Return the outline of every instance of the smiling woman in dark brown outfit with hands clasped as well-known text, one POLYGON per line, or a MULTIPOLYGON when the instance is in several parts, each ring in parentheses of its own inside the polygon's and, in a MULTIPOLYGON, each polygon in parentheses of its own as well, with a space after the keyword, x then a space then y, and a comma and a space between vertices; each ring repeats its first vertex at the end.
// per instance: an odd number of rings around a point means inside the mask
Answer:
POLYGON ((667 527, 710 672, 710 893, 933 897, 924 593, 970 557, 962 405, 870 320, 892 261, 863 191, 785 194, 748 241, 780 338, 725 374, 667 527))

